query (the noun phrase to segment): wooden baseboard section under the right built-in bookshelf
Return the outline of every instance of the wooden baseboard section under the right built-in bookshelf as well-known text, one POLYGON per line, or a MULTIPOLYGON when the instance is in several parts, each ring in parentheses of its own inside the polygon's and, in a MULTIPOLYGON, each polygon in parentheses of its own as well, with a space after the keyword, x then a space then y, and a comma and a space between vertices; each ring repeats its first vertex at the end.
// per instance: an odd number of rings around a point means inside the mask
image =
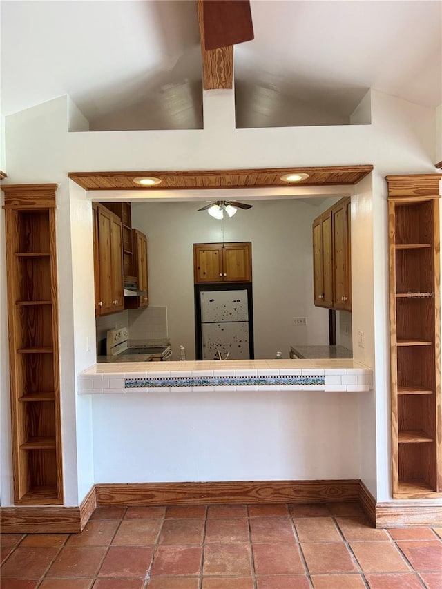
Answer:
POLYGON ((376 528, 441 528, 442 501, 394 500, 376 503, 376 528))

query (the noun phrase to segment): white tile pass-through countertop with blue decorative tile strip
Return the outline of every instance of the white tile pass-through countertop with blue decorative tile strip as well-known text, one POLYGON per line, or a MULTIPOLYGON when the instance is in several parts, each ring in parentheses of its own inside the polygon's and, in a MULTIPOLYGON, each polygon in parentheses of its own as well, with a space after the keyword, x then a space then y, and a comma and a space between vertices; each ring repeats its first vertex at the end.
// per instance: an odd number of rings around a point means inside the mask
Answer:
POLYGON ((82 371, 78 377, 78 393, 87 395, 371 389, 372 370, 352 359, 103 363, 82 371))

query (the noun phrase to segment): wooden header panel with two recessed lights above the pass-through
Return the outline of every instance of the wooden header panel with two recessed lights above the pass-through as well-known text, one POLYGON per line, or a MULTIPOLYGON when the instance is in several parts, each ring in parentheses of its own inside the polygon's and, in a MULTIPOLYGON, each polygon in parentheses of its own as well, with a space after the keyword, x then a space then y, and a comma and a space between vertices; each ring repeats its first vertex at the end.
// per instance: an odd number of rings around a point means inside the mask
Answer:
POLYGON ((373 169, 372 165, 322 166, 314 168, 257 168, 243 170, 204 171, 137 171, 137 172, 71 172, 71 180, 85 190, 171 190, 171 189, 232 189, 290 186, 280 177, 284 174, 309 174, 306 180, 293 186, 325 186, 358 184, 373 169), (140 186, 133 179, 157 177, 161 184, 149 188, 140 186))

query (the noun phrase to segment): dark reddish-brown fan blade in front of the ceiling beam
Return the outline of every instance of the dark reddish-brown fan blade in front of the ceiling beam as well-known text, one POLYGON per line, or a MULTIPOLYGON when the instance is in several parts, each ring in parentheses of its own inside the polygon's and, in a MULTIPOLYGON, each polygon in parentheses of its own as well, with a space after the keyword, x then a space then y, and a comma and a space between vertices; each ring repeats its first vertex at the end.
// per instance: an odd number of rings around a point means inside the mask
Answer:
POLYGON ((251 41, 250 0, 203 0, 204 49, 218 49, 251 41))

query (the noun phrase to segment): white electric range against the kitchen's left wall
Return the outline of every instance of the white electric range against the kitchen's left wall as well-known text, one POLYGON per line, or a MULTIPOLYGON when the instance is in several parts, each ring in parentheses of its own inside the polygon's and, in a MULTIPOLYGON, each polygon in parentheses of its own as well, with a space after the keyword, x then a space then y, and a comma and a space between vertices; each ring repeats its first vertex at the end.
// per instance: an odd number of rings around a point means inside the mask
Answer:
POLYGON ((171 360, 170 345, 146 345, 145 342, 129 340, 128 327, 119 327, 108 331, 106 354, 113 362, 167 362, 171 360))

